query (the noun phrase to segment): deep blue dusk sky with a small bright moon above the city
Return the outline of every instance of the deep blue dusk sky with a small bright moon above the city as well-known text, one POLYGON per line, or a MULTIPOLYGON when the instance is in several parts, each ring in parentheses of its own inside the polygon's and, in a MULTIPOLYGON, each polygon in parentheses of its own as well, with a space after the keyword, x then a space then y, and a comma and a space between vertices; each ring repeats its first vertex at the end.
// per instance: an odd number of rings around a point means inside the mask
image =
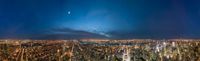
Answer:
POLYGON ((0 0, 0 38, 200 38, 200 0, 0 0))

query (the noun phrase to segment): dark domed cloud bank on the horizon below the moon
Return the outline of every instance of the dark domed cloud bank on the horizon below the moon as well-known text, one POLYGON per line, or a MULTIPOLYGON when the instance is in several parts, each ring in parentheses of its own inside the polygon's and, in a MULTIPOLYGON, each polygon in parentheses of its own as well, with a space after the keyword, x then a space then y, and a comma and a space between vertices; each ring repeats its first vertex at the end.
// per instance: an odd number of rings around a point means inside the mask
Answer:
POLYGON ((107 38, 104 35, 69 28, 53 29, 48 34, 42 34, 33 39, 82 39, 82 38, 107 38))

